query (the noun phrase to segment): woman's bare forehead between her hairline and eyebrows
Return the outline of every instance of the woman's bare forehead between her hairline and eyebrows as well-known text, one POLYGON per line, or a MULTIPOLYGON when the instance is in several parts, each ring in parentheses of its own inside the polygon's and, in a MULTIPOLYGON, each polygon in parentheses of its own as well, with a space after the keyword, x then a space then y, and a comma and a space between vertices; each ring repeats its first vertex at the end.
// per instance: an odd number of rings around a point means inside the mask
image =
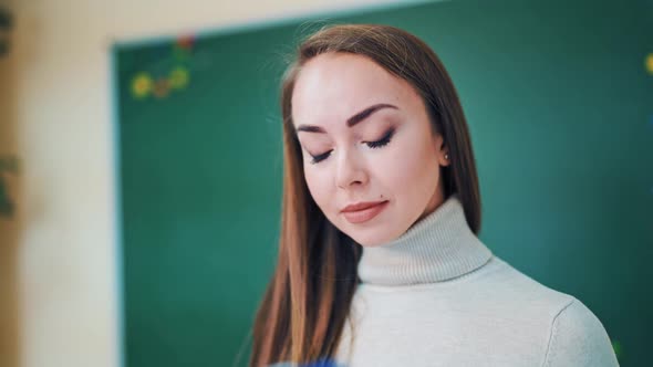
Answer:
POLYGON ((292 94, 294 124, 343 122, 377 103, 410 108, 417 94, 410 84, 372 60, 354 54, 326 53, 307 62, 292 94))

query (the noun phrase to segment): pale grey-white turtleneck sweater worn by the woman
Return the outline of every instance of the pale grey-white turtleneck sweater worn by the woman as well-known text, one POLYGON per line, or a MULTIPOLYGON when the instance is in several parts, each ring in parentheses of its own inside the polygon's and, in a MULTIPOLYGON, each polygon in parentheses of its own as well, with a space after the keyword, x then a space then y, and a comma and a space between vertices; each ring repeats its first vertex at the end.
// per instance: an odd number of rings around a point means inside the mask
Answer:
POLYGON ((619 366, 597 316, 481 243, 457 196, 364 248, 339 366, 619 366))

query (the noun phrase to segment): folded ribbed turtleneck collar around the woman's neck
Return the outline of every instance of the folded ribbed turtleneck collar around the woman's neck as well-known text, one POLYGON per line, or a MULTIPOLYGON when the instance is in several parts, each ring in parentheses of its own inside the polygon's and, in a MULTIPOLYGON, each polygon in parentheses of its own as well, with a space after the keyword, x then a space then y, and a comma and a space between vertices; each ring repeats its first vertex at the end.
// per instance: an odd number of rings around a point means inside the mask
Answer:
POLYGON ((457 193, 397 239, 364 247, 359 262, 363 283, 436 283, 467 274, 489 261, 491 251, 467 224, 457 193))

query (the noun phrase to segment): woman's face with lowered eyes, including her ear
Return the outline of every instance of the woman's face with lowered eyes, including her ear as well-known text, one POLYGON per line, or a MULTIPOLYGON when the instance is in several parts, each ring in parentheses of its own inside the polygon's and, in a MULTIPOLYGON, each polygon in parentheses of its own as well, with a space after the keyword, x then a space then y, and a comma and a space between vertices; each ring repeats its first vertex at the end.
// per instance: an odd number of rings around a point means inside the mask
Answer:
POLYGON ((325 53, 307 62, 292 119, 313 200, 357 243, 392 241, 443 202, 442 135, 414 88, 370 59, 325 53))

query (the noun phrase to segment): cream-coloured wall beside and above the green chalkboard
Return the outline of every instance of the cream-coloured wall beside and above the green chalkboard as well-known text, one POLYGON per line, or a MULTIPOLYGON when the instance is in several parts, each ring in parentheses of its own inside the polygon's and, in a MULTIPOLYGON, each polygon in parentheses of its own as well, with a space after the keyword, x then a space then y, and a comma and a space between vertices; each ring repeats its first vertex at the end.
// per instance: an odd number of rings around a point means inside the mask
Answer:
MULTIPOLYGON (((0 0, 2 3, 3 0, 0 0)), ((393 0, 13 0, 0 59, 0 155, 18 154, 0 218, 0 366, 118 366, 113 41, 393 0)))

